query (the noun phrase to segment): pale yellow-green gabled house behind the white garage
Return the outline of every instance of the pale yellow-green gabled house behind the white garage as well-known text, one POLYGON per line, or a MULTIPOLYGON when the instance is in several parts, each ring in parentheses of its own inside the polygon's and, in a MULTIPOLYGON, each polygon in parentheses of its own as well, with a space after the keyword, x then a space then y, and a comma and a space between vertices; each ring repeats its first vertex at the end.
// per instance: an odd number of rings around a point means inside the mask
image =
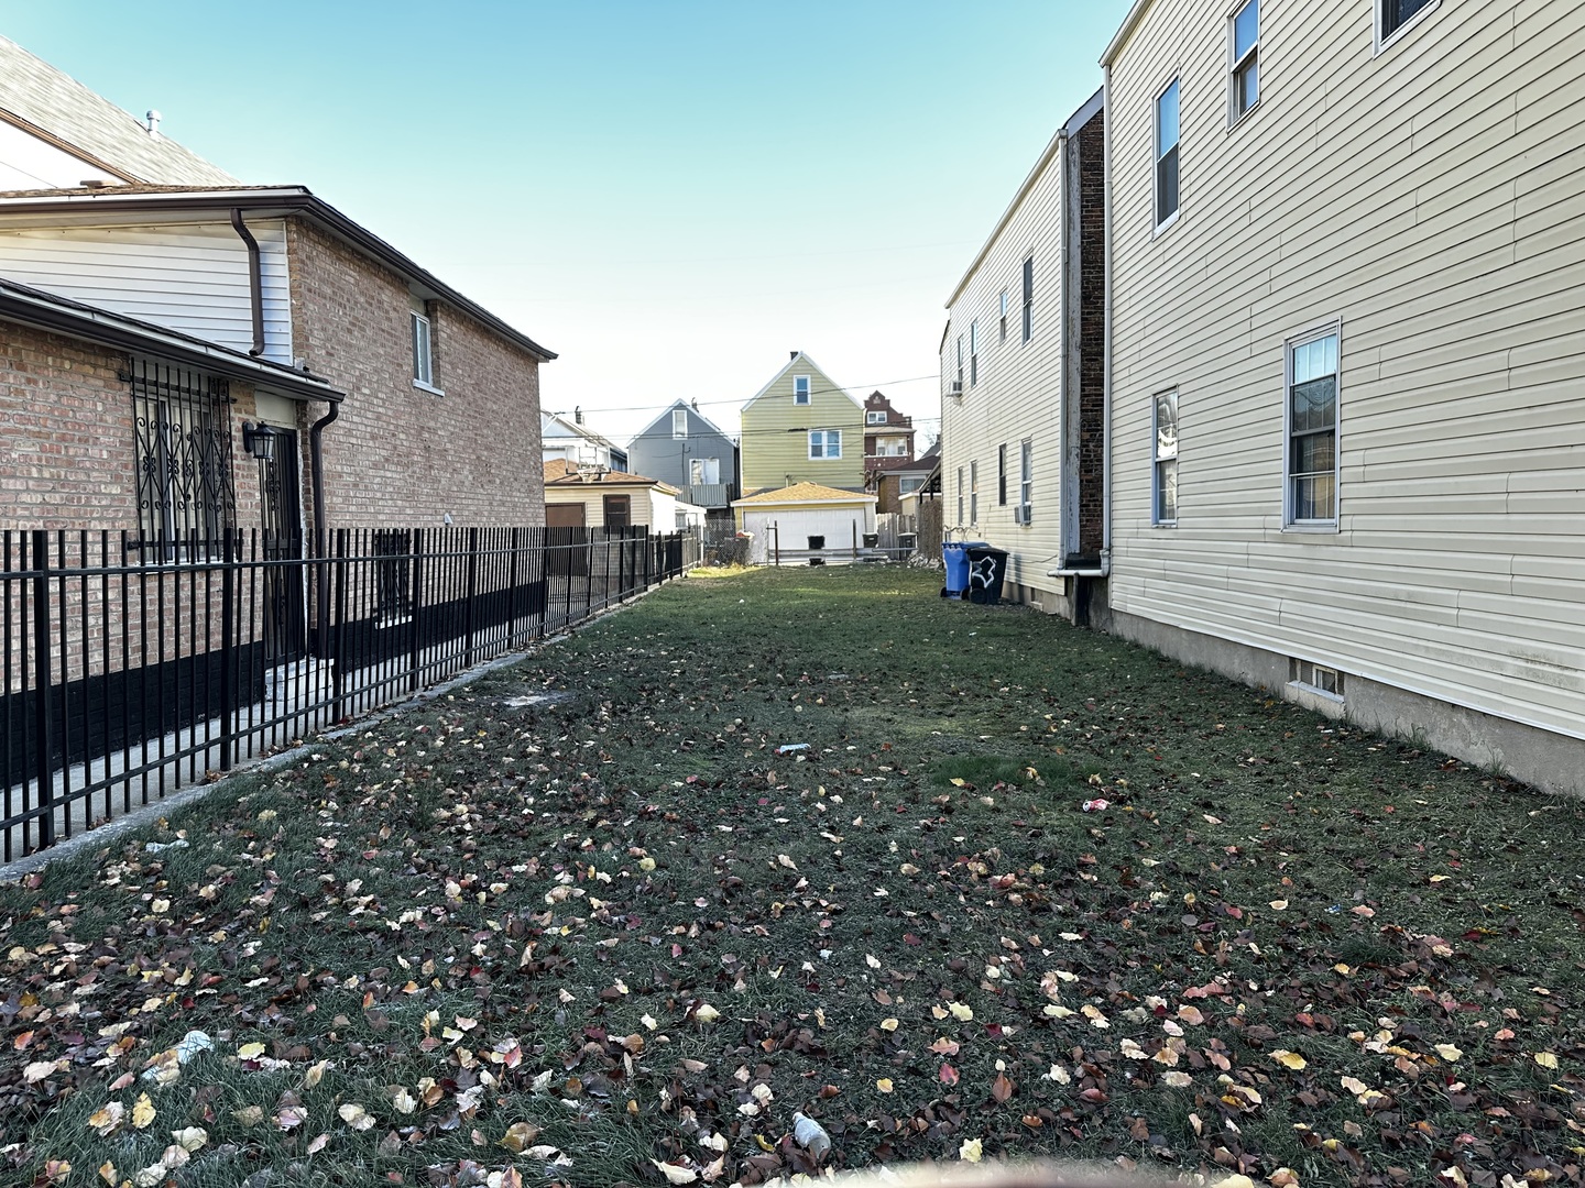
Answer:
POLYGON ((792 483, 864 491, 864 406, 800 350, 743 406, 743 493, 792 483))

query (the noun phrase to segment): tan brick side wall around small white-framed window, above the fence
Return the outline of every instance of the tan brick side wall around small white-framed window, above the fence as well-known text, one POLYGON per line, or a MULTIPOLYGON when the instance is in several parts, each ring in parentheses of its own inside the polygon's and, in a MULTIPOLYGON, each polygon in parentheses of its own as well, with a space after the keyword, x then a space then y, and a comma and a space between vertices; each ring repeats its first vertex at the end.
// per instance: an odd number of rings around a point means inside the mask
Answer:
MULTIPOLYGON (((433 303, 434 386, 412 385, 407 284, 317 228, 290 220, 293 350, 347 391, 323 432, 330 527, 545 523, 539 363, 468 315, 433 303)), ((301 412, 304 488, 307 428, 301 412)), ((312 523, 312 493, 304 518, 312 523)))

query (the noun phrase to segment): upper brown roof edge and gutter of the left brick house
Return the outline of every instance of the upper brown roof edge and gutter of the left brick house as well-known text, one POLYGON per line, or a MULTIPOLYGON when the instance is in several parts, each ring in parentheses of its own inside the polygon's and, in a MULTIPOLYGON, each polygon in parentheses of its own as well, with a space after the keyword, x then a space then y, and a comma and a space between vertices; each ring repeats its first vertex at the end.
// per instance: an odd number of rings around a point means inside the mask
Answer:
POLYGON ((390 268, 406 279, 420 296, 445 301, 540 361, 556 358, 553 350, 545 350, 523 331, 502 322, 476 301, 469 301, 366 227, 352 222, 334 206, 314 196, 304 185, 113 185, 105 188, 0 192, 0 217, 48 214, 92 225, 101 214, 179 217, 206 211, 223 212, 227 217, 231 211, 274 219, 300 214, 355 252, 390 268))

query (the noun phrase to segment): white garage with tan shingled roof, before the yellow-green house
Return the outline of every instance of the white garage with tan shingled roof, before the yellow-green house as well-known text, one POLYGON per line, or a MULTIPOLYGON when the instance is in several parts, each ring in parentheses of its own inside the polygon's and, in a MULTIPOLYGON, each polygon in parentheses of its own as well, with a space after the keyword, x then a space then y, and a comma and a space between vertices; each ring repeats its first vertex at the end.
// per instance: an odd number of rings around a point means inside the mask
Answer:
POLYGON ((754 565, 856 561, 873 550, 875 496, 819 483, 794 483, 732 502, 737 529, 751 535, 754 565))

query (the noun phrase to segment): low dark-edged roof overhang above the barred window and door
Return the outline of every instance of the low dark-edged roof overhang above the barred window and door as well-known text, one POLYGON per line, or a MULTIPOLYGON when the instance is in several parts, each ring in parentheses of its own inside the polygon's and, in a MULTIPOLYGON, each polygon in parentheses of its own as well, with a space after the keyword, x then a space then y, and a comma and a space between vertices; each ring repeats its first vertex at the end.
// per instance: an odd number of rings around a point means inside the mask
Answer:
POLYGON ((192 334, 113 314, 13 280, 0 280, 0 318, 84 342, 158 355, 217 375, 247 380, 300 401, 336 404, 346 396, 341 388, 306 371, 254 358, 192 334))

